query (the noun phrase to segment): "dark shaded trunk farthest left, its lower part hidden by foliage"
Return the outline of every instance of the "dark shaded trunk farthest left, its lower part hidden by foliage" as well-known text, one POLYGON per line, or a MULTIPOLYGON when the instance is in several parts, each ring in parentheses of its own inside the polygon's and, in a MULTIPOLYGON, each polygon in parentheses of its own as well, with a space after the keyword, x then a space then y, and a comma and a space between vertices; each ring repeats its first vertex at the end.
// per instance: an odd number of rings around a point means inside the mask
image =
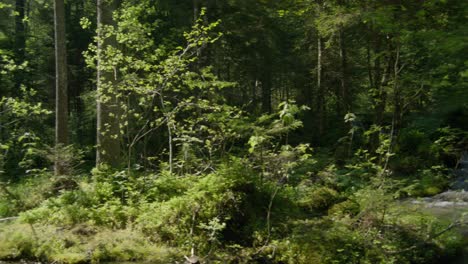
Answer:
MULTIPOLYGON (((21 64, 25 59, 26 52, 26 31, 24 25, 25 18, 25 0, 16 0, 15 3, 15 61, 21 64)), ((22 75, 19 72, 14 73, 15 90, 17 91, 23 81, 22 75)))

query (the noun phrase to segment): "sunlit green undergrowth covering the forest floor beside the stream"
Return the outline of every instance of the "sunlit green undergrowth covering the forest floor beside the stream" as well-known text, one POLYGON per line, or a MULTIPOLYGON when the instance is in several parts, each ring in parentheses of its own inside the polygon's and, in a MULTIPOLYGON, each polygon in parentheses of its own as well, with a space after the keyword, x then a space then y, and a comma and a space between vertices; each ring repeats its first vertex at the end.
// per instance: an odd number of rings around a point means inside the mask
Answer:
POLYGON ((175 263, 194 252, 204 263, 431 263, 459 247, 449 223, 395 200, 391 181, 343 185, 340 173, 273 181, 243 159, 204 175, 101 168, 2 224, 0 259, 175 263))

